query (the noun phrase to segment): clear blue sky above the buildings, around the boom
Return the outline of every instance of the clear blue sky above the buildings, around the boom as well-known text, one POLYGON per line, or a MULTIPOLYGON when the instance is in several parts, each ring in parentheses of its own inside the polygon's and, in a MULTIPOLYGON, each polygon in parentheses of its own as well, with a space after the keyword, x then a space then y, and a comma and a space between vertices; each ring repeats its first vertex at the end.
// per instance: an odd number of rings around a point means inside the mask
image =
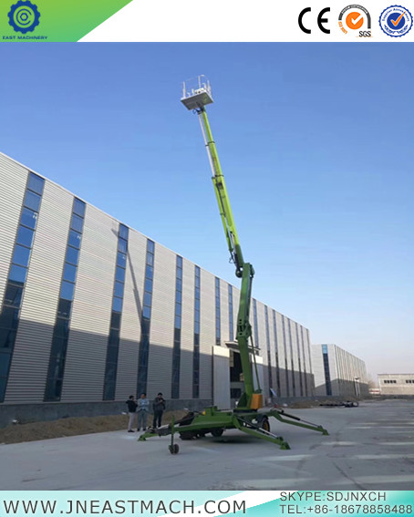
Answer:
POLYGON ((180 103, 205 74, 254 297, 414 372, 412 44, 3 44, 0 66, 1 151, 237 285, 180 103))

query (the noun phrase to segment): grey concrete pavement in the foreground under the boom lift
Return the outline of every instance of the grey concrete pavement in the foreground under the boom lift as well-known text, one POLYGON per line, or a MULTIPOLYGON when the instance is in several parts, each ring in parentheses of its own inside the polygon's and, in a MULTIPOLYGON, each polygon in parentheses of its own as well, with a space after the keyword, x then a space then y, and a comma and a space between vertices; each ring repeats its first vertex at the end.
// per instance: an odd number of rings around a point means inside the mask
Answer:
POLYGON ((112 431, 0 445, 2 490, 411 490, 414 401, 286 409, 329 436, 271 420, 291 450, 231 430, 220 439, 137 442, 112 431))

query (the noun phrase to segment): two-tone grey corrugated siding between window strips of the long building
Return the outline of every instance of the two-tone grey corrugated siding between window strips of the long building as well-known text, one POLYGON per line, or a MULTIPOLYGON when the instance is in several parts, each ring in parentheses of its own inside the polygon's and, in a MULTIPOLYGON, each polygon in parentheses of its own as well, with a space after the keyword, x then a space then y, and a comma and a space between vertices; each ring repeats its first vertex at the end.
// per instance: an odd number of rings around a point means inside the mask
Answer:
MULTIPOLYGON (((16 229, 26 187, 27 169, 0 154, 1 197, 0 295, 3 299, 16 229)), ((46 181, 29 265, 21 320, 16 338, 5 403, 42 402, 47 377, 59 288, 65 261, 73 195, 46 181)), ((119 222, 87 205, 75 289, 62 402, 100 401, 103 395, 109 321, 117 260, 119 222)), ((140 347, 140 318, 144 289, 147 238, 130 230, 125 292, 120 326, 116 399, 136 392, 140 347)), ((150 323, 148 395, 161 391, 171 397, 172 346, 176 289, 176 253, 155 244, 150 323)), ((233 287, 233 324, 236 335, 240 284, 233 287)), ((228 284, 220 280, 221 346, 230 338, 228 284)), ((264 364, 264 394, 269 392, 264 304, 256 303, 258 345, 264 364)), ((194 264, 183 260, 180 398, 192 395, 194 333, 194 264)), ((287 317, 268 308, 273 388, 276 387, 275 337, 282 396, 301 395, 299 360, 310 384, 309 336, 287 317), (284 331, 285 328, 285 331, 284 331), (303 331, 303 333, 302 333, 303 331), (285 370, 285 359, 287 371, 285 370), (289 379, 289 393, 286 390, 289 379)), ((251 306, 254 327, 254 308, 251 306)), ((201 269, 200 398, 212 398, 212 347, 215 346, 215 277, 201 269)), ((342 357, 342 356, 341 356, 342 357)), ((357 358, 356 358, 357 359, 357 358)), ((342 358, 338 358, 338 363, 342 358)), ((362 368, 356 362, 355 368, 362 368)), ((358 370, 359 371, 359 370, 358 370)), ((362 371, 362 369, 361 369, 362 371)), ((362 377, 363 373, 360 374, 362 377)), ((349 376, 348 376, 349 377, 349 376)), ((215 380, 217 383, 217 379, 215 380)), ((303 382, 303 377, 302 377, 303 382)), ((303 394, 305 385, 303 383, 303 394)), ((308 386, 309 395, 311 386, 308 386)))

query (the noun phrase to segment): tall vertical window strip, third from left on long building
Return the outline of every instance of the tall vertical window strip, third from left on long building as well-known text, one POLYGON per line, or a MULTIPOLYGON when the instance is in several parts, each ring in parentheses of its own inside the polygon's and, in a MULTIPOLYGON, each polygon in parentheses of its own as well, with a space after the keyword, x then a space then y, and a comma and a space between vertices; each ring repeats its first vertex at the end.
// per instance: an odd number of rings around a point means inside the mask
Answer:
POLYGON ((105 377, 103 388, 103 400, 115 400, 118 374, 119 356, 119 333, 120 321, 122 317, 122 304, 125 286, 125 273, 127 267, 129 228, 119 222, 118 229, 118 250, 117 263, 115 264, 114 290, 112 295, 112 312, 109 323, 109 338, 107 345, 107 357, 105 361, 105 377), (119 245, 119 243, 121 243, 119 245), (119 264, 119 253, 123 258, 122 265, 119 264), (122 273, 120 273, 122 272, 122 273), (118 273, 118 274, 117 274, 118 273), (120 278, 120 280, 119 280, 120 278))

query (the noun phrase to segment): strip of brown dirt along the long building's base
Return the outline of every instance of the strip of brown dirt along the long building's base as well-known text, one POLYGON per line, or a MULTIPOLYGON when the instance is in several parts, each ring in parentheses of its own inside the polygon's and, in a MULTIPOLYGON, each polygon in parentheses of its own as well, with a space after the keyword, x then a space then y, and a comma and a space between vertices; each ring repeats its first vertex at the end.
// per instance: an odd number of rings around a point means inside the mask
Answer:
MULTIPOLYGON (((163 415, 162 424, 170 423, 172 414, 175 419, 181 419, 185 413, 186 411, 167 412, 163 415)), ((152 416, 150 415, 148 418, 149 424, 151 418, 152 416)), ((62 438, 120 429, 127 430, 128 419, 128 415, 108 415, 104 417, 77 417, 9 425, 4 429, 0 429, 0 444, 62 438)))

